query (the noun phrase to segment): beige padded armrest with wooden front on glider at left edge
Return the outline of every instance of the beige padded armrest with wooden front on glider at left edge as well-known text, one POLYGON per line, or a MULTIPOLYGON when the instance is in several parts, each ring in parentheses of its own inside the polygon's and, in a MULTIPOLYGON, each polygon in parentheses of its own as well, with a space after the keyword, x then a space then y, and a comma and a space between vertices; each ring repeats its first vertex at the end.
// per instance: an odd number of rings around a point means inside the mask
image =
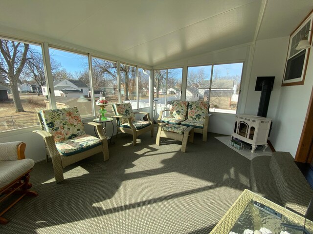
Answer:
POLYGON ((24 159, 25 148, 22 141, 0 143, 0 161, 24 159))

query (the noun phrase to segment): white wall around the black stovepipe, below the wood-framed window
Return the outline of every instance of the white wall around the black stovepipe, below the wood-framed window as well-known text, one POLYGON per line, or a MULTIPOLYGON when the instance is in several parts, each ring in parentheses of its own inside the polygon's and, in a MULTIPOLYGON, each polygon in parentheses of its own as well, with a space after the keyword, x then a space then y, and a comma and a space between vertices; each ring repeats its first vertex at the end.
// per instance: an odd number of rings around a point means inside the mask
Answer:
POLYGON ((256 42, 245 112, 258 111, 261 92, 254 91, 256 77, 275 76, 267 116, 273 121, 269 140, 276 151, 294 157, 313 86, 313 56, 311 53, 304 85, 281 86, 288 43, 289 37, 256 42))

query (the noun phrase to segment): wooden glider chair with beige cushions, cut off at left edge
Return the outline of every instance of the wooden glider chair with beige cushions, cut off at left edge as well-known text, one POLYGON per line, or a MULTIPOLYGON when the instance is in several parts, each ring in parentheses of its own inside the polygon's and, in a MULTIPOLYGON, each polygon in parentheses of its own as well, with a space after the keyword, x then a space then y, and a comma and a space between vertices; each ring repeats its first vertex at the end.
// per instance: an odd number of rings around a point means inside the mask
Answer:
POLYGON ((19 196, 0 211, 0 223, 7 224, 8 220, 2 215, 12 208, 25 195, 37 196, 35 191, 30 191, 29 173, 34 166, 34 160, 25 158, 26 144, 22 141, 0 143, 0 202, 12 194, 19 196))

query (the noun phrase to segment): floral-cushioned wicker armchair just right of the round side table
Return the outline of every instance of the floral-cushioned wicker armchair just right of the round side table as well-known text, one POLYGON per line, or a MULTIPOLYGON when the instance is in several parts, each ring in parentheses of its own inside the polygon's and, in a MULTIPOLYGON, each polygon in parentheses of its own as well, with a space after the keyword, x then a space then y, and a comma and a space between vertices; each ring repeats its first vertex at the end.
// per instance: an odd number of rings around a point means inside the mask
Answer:
MULTIPOLYGON (((153 137, 153 121, 148 112, 133 112, 131 103, 116 103, 112 106, 117 122, 117 133, 128 133, 133 135, 133 145, 137 143, 137 136, 151 131, 153 137), (148 121, 135 120, 135 114, 144 114, 148 121)), ((116 133, 116 136, 117 136, 116 133)))

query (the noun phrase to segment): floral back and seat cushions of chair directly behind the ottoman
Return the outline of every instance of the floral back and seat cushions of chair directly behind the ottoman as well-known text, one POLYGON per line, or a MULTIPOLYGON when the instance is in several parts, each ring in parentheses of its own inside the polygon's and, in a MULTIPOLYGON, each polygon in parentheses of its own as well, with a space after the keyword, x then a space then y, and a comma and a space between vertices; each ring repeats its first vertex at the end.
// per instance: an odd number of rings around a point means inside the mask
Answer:
POLYGON ((172 101, 172 107, 170 110, 160 111, 160 115, 157 119, 158 123, 173 123, 180 124, 186 120, 188 111, 188 101, 172 101), (169 117, 163 117, 163 113, 169 111, 169 117))

